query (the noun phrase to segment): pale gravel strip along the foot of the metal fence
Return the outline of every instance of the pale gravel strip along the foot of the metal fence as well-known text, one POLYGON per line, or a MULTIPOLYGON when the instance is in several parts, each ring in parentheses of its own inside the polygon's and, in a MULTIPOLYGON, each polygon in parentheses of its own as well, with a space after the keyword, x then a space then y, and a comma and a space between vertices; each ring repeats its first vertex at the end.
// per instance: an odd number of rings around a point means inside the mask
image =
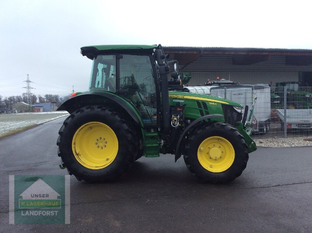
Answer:
POLYGON ((312 136, 303 137, 271 137, 254 139, 257 146, 265 147, 292 147, 292 146, 312 146, 312 141, 305 141, 305 138, 312 138, 312 136))

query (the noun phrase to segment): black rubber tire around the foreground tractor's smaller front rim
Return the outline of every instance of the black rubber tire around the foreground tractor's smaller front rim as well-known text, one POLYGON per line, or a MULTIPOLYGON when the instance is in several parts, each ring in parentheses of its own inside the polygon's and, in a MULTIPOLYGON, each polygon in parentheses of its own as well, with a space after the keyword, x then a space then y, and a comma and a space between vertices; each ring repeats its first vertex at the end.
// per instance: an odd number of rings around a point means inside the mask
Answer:
POLYGON ((190 133, 185 143, 184 161, 188 169, 199 180, 212 184, 227 183, 235 180, 246 168, 248 161, 248 147, 244 137, 232 125, 215 122, 210 125, 202 125, 190 133), (206 170, 199 162, 197 149, 199 145, 208 137, 220 136, 227 139, 233 146, 235 158, 232 165, 222 172, 212 172, 206 170))

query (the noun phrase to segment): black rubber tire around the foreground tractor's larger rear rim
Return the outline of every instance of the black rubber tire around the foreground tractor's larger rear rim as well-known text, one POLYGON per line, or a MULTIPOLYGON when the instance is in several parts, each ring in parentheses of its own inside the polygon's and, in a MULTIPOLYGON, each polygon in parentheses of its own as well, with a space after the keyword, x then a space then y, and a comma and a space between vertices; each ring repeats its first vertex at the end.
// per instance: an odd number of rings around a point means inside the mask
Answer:
POLYGON ((134 132, 130 122, 109 108, 101 106, 83 107, 67 117, 59 130, 56 143, 59 146, 58 156, 61 157, 62 165, 67 168, 68 173, 76 176, 79 181, 114 181, 127 171, 136 159, 139 140, 134 132), (80 126, 91 121, 108 125, 118 140, 118 152, 114 161, 101 169, 90 169, 81 165, 72 151, 72 139, 75 132, 80 126))

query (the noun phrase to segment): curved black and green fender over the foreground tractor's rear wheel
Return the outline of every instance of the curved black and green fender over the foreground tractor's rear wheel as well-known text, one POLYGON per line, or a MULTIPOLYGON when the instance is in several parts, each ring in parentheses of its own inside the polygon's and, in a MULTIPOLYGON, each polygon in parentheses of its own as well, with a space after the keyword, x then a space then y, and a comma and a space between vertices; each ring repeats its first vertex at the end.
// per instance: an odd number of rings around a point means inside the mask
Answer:
MULTIPOLYGON (((70 114, 84 106, 109 103, 123 109, 134 120, 139 127, 143 127, 143 122, 139 117, 139 113, 135 111, 135 108, 125 99, 119 97, 110 92, 84 92, 80 95, 72 97, 65 101, 57 108, 56 111, 67 111, 70 114), (99 100, 100 99, 100 100, 99 100)), ((117 107, 116 106, 116 107, 117 107)))

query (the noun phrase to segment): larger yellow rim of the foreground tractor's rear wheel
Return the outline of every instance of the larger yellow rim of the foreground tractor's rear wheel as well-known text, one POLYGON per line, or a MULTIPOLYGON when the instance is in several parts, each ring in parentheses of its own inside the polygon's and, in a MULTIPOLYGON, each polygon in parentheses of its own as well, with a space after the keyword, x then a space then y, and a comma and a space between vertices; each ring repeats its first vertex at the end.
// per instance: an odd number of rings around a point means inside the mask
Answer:
POLYGON ((90 169, 109 166, 117 156, 118 139, 110 126, 92 121, 77 129, 72 140, 76 160, 90 169))

